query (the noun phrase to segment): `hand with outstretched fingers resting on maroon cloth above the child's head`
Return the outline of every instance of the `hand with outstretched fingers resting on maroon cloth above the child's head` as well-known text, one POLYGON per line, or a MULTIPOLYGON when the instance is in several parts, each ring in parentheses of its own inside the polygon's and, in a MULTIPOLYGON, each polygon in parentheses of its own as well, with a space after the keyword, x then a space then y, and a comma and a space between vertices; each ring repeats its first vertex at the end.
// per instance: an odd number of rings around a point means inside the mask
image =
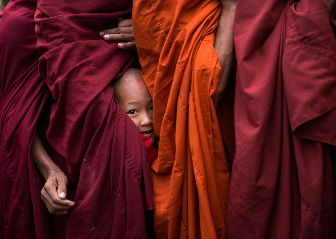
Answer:
POLYGON ((122 49, 133 49, 136 51, 136 45, 133 34, 132 19, 117 18, 118 27, 99 32, 99 36, 106 41, 122 41, 118 44, 122 49))

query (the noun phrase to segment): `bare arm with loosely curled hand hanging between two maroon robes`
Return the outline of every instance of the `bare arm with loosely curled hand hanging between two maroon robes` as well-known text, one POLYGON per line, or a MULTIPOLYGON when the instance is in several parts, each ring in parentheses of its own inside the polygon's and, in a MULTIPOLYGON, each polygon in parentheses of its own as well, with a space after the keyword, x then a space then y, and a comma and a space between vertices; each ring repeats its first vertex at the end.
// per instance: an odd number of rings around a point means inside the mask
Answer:
POLYGON ((38 133, 35 134, 31 151, 35 165, 46 180, 41 191, 43 202, 52 214, 67 213, 75 205, 75 202, 66 199, 68 177, 52 161, 38 133))

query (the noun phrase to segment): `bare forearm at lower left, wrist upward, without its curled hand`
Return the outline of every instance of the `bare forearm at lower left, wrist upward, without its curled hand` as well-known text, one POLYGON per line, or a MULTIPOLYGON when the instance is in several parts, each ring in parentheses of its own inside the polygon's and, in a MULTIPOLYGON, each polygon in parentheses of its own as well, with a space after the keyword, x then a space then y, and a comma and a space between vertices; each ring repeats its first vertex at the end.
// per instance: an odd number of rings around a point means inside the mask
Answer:
POLYGON ((59 169, 58 166, 52 161, 47 151, 45 150, 45 147, 42 144, 41 138, 37 132, 33 140, 31 152, 35 165, 41 172, 44 179, 48 178, 50 171, 54 169, 59 169))

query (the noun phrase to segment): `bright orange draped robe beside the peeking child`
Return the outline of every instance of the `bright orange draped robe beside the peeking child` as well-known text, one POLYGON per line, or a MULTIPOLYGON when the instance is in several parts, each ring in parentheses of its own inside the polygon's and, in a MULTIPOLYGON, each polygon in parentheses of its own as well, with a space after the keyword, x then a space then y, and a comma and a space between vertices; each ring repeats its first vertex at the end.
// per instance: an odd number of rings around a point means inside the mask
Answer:
POLYGON ((216 116, 220 65, 213 48, 220 13, 211 0, 133 1, 160 138, 151 167, 157 238, 224 238, 230 175, 216 116))

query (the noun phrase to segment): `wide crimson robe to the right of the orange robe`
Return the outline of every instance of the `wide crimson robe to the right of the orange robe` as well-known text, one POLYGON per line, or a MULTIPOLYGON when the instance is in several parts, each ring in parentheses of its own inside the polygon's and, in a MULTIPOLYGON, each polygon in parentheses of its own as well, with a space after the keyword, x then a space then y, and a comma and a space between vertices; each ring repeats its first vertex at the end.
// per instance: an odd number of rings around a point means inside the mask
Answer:
POLYGON ((326 5, 240 0, 234 38, 226 238, 334 238, 336 41, 326 5))

